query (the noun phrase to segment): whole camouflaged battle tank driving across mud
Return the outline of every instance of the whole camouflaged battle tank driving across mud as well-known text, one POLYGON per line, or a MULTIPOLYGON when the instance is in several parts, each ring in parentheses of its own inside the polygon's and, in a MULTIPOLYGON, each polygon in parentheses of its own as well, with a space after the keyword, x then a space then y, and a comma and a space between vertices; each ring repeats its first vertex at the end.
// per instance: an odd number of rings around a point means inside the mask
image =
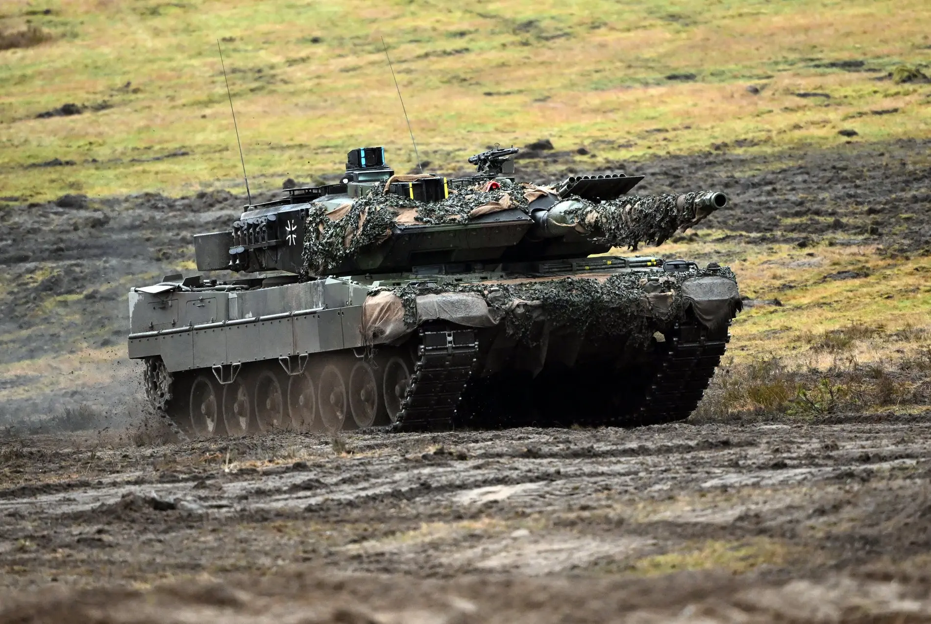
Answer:
POLYGON ((637 250, 728 198, 629 195, 643 178, 624 173, 519 183, 517 153, 443 177, 353 149, 338 183, 196 235, 199 273, 129 292, 155 409, 205 437, 687 418, 741 308, 735 276, 637 250))

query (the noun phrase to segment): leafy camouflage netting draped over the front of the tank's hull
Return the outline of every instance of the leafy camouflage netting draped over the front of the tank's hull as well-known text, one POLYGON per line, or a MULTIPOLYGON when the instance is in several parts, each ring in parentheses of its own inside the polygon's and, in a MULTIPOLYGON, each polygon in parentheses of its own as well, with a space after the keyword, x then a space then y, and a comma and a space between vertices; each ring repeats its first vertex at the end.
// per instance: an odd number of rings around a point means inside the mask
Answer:
POLYGON ((419 322, 416 302, 419 295, 473 292, 502 318, 509 335, 528 345, 536 341, 535 325, 546 320, 551 330, 572 327, 592 340, 628 335, 628 340, 634 342, 631 346, 643 346, 654 332, 671 329, 671 324, 681 318, 689 305, 681 293, 682 282, 711 276, 736 282, 730 269, 720 268, 676 273, 638 271, 606 279, 567 277, 520 283, 412 282, 392 292, 404 305, 404 323, 408 327, 419 322), (648 277, 659 280, 649 282, 648 277))

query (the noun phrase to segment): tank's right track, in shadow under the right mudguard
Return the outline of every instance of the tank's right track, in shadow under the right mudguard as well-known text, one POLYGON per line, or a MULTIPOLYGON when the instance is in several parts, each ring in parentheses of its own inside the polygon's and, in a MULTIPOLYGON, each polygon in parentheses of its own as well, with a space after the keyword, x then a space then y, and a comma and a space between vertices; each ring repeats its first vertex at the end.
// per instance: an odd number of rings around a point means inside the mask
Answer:
POLYGON ((659 358, 641 406, 616 423, 621 427, 662 425, 685 420, 695 411, 721 363, 730 336, 708 338, 695 324, 678 324, 671 346, 659 358))

